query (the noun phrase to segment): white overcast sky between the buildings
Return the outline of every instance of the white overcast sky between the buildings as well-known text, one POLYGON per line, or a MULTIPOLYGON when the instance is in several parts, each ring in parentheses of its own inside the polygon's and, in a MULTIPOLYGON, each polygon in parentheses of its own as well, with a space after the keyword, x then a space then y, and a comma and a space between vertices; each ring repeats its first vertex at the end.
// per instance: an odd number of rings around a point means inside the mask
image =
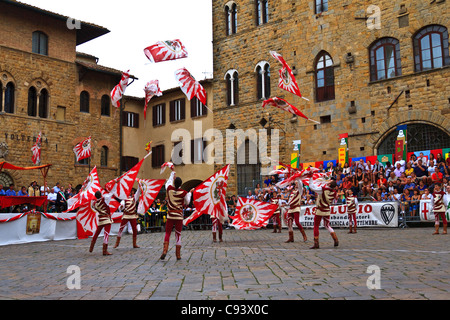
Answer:
MULTIPOLYGON (((212 77, 211 0, 19 0, 45 10, 93 23, 111 32, 77 47, 99 64, 139 78, 126 95, 143 97, 145 84, 158 79, 161 90, 178 86, 175 70, 185 67, 197 80, 212 77), (180 39, 186 59, 152 64, 144 48, 180 39)), ((112 88, 111 88, 112 90, 112 88)))

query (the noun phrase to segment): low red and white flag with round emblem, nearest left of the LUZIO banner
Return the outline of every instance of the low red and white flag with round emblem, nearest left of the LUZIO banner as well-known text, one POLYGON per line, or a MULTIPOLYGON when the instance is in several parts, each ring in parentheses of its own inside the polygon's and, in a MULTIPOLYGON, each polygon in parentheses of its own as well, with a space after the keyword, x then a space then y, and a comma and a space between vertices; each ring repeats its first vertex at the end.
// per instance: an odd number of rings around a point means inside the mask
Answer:
POLYGON ((278 209, 278 205, 268 202, 239 198, 231 224, 238 230, 258 230, 269 224, 270 217, 278 209))

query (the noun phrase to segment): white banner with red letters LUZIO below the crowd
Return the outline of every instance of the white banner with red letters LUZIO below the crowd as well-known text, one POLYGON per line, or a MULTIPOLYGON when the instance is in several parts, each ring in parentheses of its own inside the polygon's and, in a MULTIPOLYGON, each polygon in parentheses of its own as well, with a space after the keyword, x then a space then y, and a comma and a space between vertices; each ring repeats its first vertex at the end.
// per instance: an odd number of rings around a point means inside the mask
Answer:
MULTIPOLYGON (((304 228, 314 227, 316 206, 302 206, 300 223, 304 228)), ((396 202, 364 202, 356 212, 358 227, 398 227, 398 204, 396 202)), ((287 225, 287 224, 286 224, 287 225)), ((347 228, 347 206, 331 207, 330 225, 332 228, 347 228)))

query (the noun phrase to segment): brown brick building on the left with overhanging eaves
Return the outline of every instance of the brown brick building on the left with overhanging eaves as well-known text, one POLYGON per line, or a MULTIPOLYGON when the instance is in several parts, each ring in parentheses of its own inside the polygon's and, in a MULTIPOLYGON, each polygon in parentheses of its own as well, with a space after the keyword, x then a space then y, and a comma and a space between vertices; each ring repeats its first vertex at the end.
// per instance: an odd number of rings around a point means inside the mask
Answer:
MULTIPOLYGON (((0 1, 0 143, 8 161, 33 166, 31 148, 43 134, 42 164, 52 164, 48 184, 83 183, 98 167, 102 183, 120 172, 120 122, 109 94, 121 71, 76 51, 78 45, 109 32, 17 1, 0 1), (69 21, 70 22, 70 21, 69 21), (71 20, 73 23, 73 20, 71 20), (92 136, 90 165, 76 163, 73 147, 92 136)), ((7 172, 0 183, 16 189, 37 180, 37 171, 7 172)))

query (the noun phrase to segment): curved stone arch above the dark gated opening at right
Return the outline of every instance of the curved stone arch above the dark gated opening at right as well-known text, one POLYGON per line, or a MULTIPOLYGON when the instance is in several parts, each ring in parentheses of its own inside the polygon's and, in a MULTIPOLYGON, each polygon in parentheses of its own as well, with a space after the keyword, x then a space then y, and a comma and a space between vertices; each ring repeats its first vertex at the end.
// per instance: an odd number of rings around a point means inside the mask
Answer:
POLYGON ((403 124, 423 123, 441 129, 450 135, 450 119, 442 116, 440 112, 412 110, 397 112, 395 116, 385 119, 379 125, 379 132, 370 137, 368 144, 377 154, 378 147, 383 140, 403 124))

